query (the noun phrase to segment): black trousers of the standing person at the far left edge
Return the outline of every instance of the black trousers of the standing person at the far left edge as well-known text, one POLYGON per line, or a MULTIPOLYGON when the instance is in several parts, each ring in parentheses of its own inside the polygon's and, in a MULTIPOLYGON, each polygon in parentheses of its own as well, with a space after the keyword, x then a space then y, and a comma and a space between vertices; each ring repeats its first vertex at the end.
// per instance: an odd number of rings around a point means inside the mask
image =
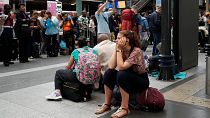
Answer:
POLYGON ((9 62, 12 58, 13 29, 4 28, 0 38, 2 43, 3 62, 9 62))

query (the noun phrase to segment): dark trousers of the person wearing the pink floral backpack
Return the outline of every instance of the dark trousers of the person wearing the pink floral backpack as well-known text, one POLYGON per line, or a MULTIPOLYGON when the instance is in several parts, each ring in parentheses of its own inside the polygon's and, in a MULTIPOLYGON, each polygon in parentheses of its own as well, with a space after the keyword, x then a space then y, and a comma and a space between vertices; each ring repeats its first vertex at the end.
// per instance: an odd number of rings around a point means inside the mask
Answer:
MULTIPOLYGON (((78 82, 76 73, 67 69, 57 70, 55 73, 55 89, 61 89, 64 82, 78 82)), ((83 84, 84 85, 84 84, 83 84)), ((88 94, 92 93, 92 85, 84 85, 84 88, 88 94)))

